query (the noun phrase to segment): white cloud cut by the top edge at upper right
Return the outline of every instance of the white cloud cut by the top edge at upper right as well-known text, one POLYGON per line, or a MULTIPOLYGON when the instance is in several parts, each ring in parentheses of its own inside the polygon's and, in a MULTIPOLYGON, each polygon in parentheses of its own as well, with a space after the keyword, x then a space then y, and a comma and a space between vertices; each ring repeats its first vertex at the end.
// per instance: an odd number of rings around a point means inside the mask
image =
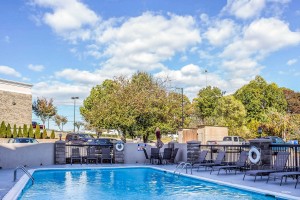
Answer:
POLYGON ((258 16, 265 7, 265 0, 227 0, 223 12, 237 18, 249 19, 258 16))

